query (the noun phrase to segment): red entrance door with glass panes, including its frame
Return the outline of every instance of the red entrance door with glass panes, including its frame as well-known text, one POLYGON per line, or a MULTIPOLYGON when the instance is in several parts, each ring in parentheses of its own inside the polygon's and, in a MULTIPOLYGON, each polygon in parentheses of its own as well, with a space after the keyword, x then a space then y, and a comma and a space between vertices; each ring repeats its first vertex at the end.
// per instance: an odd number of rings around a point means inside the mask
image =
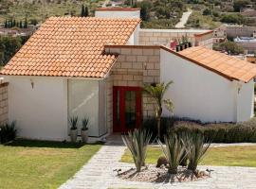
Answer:
POLYGON ((141 115, 141 88, 113 87, 113 131, 139 128, 141 115))

